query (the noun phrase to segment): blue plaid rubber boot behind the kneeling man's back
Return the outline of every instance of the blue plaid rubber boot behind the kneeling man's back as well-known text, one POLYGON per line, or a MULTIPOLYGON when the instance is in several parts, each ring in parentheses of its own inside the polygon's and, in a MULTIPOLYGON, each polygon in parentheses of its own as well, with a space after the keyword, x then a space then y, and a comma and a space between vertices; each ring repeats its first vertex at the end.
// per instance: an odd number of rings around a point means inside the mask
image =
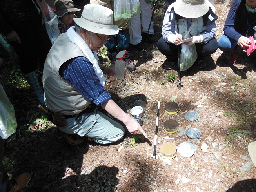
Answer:
POLYGON ((29 85, 34 89, 34 93, 36 94, 40 103, 45 104, 44 102, 44 90, 40 86, 40 83, 37 78, 36 71, 24 74, 29 85))

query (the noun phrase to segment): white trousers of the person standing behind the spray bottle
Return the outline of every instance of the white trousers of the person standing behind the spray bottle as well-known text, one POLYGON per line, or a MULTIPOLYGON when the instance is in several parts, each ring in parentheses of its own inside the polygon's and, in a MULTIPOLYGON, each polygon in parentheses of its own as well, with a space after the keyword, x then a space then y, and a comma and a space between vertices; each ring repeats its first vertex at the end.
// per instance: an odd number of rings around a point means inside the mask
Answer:
POLYGON ((137 45, 141 42, 141 30, 140 25, 142 25, 142 32, 146 32, 149 29, 149 34, 154 34, 153 22, 151 22, 150 28, 149 23, 151 20, 151 4, 145 2, 145 0, 139 0, 140 2, 140 12, 141 12, 141 22, 140 14, 134 16, 134 18, 129 20, 129 33, 130 33, 130 43, 132 45, 137 45))

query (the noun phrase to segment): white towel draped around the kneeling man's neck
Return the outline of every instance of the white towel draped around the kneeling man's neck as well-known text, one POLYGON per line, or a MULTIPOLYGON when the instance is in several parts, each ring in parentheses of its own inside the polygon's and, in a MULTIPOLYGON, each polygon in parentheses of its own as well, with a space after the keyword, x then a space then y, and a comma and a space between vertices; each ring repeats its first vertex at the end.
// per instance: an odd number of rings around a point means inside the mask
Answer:
POLYGON ((85 41, 82 39, 82 37, 80 37, 79 34, 76 33, 76 31, 74 31, 74 26, 70 27, 67 30, 67 36, 69 37, 69 39, 76 44, 81 50, 82 52, 85 54, 85 56, 87 57, 87 59, 93 63, 93 69, 95 71, 95 74, 97 75, 97 77, 100 80, 100 84, 104 87, 105 82, 106 82, 106 78, 103 75, 102 70, 99 67, 97 58, 95 58, 94 51, 92 52, 91 49, 88 47, 88 45, 85 43, 85 41))

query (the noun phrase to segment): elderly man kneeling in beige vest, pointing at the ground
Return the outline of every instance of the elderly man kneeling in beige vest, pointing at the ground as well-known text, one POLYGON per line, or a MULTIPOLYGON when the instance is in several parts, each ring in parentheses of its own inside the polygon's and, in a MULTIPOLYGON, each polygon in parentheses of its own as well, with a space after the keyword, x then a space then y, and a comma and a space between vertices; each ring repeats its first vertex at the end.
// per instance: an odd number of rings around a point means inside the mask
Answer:
POLYGON ((115 71, 99 64, 95 51, 107 43, 108 36, 118 33, 113 11, 87 4, 81 18, 74 21, 76 26, 58 37, 44 65, 44 101, 53 122, 65 135, 77 134, 101 144, 120 140, 124 135, 122 125, 98 111, 100 105, 122 121, 131 134, 142 132, 147 137, 138 122, 103 88, 103 72, 114 76, 115 71))

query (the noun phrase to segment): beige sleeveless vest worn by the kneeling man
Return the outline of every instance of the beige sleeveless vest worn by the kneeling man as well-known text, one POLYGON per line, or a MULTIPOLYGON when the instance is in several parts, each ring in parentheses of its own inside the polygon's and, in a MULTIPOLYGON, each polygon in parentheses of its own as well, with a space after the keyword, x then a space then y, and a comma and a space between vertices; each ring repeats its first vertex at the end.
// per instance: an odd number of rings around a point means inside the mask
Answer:
POLYGON ((86 57, 66 33, 58 37, 49 51, 43 72, 44 101, 47 108, 53 112, 74 115, 82 112, 91 103, 59 75, 60 66, 78 56, 86 57))

